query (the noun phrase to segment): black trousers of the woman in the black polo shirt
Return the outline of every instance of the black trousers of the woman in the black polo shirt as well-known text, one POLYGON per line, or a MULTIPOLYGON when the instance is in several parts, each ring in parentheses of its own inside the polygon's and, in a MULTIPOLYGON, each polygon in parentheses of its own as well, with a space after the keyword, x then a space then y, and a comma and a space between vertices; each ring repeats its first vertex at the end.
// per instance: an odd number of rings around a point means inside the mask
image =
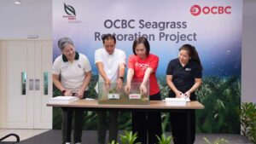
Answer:
MULTIPOLYGON (((185 91, 182 91, 183 93, 185 91)), ((172 91, 169 97, 175 97, 172 91)), ((190 94, 190 100, 195 101, 195 93, 190 94)), ((182 112, 170 112, 171 130, 174 144, 193 144, 195 142, 195 110, 190 110, 191 127, 187 125, 187 115, 182 112), (191 130, 191 143, 187 143, 187 130, 191 130)))

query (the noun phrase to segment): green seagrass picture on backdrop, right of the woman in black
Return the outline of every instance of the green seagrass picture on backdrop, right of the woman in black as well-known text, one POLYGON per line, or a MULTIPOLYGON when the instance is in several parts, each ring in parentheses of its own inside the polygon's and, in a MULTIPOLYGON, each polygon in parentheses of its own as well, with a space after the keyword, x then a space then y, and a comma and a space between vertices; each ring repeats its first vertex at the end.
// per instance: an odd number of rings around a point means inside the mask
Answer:
POLYGON ((203 78, 196 92, 204 110, 196 112, 196 129, 202 133, 239 134, 240 122, 236 109, 240 107, 240 78, 203 78))

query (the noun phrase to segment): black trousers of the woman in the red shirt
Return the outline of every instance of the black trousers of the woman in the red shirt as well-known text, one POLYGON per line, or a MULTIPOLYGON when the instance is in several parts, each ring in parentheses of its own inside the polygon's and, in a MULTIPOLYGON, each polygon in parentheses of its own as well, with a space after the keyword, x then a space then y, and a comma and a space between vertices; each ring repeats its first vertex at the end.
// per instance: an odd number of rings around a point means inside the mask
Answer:
MULTIPOLYGON (((150 95, 150 101, 159 101, 160 92, 150 95)), ((137 132, 137 141, 142 144, 156 144, 158 140, 155 135, 162 135, 160 112, 132 112, 132 132, 137 132)))

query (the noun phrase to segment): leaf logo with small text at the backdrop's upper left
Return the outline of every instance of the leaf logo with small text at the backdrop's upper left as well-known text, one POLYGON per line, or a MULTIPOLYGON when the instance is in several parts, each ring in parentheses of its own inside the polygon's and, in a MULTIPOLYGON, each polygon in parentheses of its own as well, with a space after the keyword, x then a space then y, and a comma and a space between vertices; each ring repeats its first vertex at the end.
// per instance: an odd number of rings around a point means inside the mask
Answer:
POLYGON ((63 15, 63 18, 67 18, 68 23, 80 23, 81 20, 77 20, 76 10, 71 5, 64 3, 64 11, 67 15, 63 15))

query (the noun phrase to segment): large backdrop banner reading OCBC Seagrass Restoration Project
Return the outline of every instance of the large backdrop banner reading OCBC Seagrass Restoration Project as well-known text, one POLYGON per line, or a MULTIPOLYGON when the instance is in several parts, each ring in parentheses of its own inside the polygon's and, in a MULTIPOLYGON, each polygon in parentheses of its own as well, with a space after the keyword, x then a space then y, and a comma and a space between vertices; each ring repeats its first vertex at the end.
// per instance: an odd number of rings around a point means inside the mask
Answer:
MULTIPOLYGON (((132 55, 132 43, 147 37, 150 53, 160 57, 157 70, 162 98, 168 95, 166 68, 177 58, 185 43, 195 46, 204 67, 203 84, 197 99, 205 105, 196 111, 198 132, 240 134, 236 108, 241 102, 242 1, 237 0, 58 0, 53 1, 53 45, 55 59, 61 55, 57 41, 73 39, 75 48, 86 55, 92 66, 91 97, 97 81, 94 64, 96 49, 102 48, 102 35, 117 38, 116 48, 132 55)), ((54 96, 59 91, 54 91, 54 96)), ((129 113, 122 113, 119 128, 131 130, 129 113), (126 117, 127 116, 127 117, 126 117), (129 122, 128 122, 129 121, 129 122)), ((95 129, 95 112, 86 112, 85 129, 95 129), (93 122, 93 123, 91 123, 93 122)), ((54 118, 59 119, 55 109, 54 118)), ((170 130, 169 115, 163 113, 163 127, 170 130)), ((60 120, 54 119, 54 128, 60 120)))

